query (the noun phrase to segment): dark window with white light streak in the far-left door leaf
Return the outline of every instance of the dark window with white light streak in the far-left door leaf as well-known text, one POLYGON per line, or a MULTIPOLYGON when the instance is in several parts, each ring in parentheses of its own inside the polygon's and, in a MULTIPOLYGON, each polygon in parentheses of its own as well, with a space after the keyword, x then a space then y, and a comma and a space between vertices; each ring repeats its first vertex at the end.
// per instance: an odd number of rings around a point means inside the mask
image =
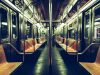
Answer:
POLYGON ((0 8, 0 17, 1 17, 1 38, 7 39, 8 37, 7 11, 3 8, 0 8))

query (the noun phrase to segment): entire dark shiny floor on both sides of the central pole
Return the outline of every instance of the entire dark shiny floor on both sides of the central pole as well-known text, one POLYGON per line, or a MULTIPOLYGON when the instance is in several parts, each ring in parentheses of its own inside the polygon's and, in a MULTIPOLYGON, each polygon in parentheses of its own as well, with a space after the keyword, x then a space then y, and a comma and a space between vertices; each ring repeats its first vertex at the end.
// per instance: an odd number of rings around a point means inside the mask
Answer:
MULTIPOLYGON (((87 75, 78 63, 67 62, 62 48, 52 47, 52 75, 87 75)), ((25 62, 13 75, 49 75, 49 46, 39 48, 30 62, 25 62)))

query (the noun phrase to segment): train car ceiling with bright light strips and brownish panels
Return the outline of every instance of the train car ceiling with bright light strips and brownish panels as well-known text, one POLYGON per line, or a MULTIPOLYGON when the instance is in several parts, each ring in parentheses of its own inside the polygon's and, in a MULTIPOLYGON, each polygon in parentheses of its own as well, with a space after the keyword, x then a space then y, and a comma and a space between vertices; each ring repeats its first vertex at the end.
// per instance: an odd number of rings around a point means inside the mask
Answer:
MULTIPOLYGON (((95 2, 95 0, 75 0, 74 2, 72 0, 53 0, 52 26, 57 28, 59 25, 62 25, 61 23, 65 23, 66 25, 74 16, 77 16, 77 4, 79 4, 79 13, 81 13, 85 11, 87 7, 89 8, 93 5, 93 1, 95 2)), ((23 0, 1 0, 1 2, 22 16, 24 13, 24 18, 27 18, 27 20, 35 26, 41 28, 49 27, 48 0, 24 0, 24 6, 23 0)))

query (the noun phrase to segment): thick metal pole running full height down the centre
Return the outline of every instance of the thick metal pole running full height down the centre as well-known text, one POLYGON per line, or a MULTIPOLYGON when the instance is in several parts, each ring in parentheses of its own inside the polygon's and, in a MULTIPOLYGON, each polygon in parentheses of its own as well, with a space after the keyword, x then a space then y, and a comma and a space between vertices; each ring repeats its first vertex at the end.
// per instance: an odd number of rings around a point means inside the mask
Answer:
POLYGON ((49 75, 52 75, 52 0, 49 0, 49 75))

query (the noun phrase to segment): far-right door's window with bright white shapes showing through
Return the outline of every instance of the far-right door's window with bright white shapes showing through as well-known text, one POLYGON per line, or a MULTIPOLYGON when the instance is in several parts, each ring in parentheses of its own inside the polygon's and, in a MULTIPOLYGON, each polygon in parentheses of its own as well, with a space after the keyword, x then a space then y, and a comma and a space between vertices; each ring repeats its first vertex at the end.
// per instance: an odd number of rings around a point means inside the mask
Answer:
POLYGON ((95 10, 94 38, 100 39, 100 8, 95 10))

